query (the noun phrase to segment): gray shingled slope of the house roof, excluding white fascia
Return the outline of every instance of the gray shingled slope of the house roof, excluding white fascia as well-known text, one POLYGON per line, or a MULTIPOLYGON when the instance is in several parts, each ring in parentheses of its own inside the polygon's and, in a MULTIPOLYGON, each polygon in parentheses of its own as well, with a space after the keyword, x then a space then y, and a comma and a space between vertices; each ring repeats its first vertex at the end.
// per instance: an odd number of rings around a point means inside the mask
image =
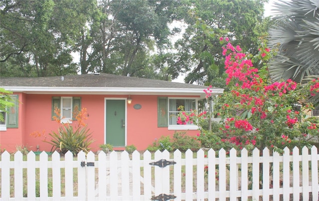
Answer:
POLYGON ((193 88, 205 89, 206 86, 153 80, 138 77, 127 77, 100 73, 83 75, 65 75, 53 77, 1 77, 0 86, 29 87, 125 87, 125 88, 193 88))

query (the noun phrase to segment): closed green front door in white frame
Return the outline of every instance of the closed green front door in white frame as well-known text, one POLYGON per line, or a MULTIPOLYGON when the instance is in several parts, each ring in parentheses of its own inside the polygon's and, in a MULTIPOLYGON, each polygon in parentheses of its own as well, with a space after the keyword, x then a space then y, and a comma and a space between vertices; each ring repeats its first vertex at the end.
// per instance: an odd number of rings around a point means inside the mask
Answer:
POLYGON ((106 100, 106 143, 125 146, 125 100, 106 100))

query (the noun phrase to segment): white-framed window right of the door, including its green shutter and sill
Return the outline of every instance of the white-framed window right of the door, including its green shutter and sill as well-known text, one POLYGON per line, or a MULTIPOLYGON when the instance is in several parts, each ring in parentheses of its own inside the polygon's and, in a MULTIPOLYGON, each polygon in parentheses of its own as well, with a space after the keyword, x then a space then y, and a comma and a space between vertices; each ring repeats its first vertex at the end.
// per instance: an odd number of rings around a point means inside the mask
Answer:
POLYGON ((197 99, 158 97, 158 127, 168 127, 168 130, 198 129, 190 122, 186 125, 177 124, 177 115, 181 106, 185 112, 197 110, 197 99))

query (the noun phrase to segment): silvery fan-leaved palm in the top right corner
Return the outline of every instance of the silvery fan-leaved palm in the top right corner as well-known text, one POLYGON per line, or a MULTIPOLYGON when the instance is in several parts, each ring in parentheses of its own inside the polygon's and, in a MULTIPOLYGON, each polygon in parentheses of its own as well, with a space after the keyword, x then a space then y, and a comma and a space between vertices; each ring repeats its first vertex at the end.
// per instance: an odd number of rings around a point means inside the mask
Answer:
POLYGON ((278 47, 279 53, 269 65, 272 80, 305 83, 307 76, 319 77, 319 1, 281 1, 275 6, 269 45, 278 47))

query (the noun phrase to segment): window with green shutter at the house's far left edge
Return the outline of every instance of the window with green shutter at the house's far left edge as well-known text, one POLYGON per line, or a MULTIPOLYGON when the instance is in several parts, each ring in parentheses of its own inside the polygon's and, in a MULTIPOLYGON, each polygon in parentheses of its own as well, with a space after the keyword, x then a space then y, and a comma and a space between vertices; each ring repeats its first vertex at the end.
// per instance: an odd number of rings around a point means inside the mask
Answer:
POLYGON ((3 121, 0 121, 0 131, 6 131, 7 128, 18 128, 18 107, 19 107, 19 96, 10 95, 14 105, 10 108, 6 108, 6 111, 0 111, 3 117, 3 121))

